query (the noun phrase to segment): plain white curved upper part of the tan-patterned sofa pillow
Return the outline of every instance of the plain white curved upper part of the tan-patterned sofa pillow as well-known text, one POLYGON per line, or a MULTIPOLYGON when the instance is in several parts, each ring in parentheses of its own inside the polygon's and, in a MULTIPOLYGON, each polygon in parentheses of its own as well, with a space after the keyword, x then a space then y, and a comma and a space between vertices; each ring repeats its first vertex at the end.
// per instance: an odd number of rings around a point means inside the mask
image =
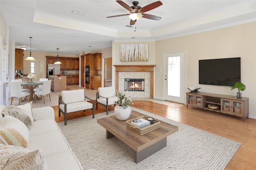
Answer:
MULTIPOLYGON (((24 123, 22 123, 22 121, 20 121, 19 119, 16 119, 15 117, 5 115, 3 119, 3 126, 0 129, 4 129, 4 128, 6 129, 8 127, 11 127, 16 131, 18 131, 18 133, 20 133, 20 135, 22 135, 22 137, 24 137, 24 139, 26 139, 28 143, 28 139, 29 139, 28 128, 24 123)), ((5 145, 8 145, 8 143, 6 143, 6 141, 3 140, 2 134, 0 134, 0 139, 2 139, 2 141, 0 140, 0 143, 4 143, 5 145)))

